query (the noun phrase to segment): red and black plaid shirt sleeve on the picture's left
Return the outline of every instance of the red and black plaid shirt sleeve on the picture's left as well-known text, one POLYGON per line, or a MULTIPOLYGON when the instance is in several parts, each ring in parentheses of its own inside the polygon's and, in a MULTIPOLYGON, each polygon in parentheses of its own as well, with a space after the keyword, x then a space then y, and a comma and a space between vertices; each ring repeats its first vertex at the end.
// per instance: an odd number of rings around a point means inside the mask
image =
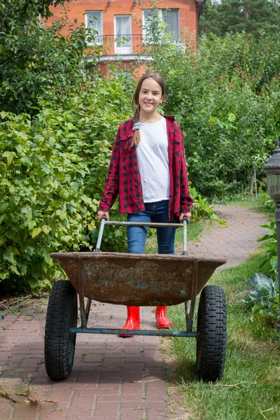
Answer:
POLYGON ((120 127, 116 135, 113 151, 106 178, 104 193, 98 209, 101 211, 109 211, 113 206, 120 186, 120 127))

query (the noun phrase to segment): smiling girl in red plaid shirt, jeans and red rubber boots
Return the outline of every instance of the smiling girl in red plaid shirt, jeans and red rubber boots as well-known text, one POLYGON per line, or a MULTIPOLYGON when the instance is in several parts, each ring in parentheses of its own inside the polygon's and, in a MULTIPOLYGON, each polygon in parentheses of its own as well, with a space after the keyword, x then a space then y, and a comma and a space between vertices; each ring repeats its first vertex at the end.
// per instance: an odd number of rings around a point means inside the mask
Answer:
MULTIPOLYGON (((165 81, 158 73, 144 74, 132 99, 134 116, 118 128, 98 218, 109 221, 119 195, 120 213, 129 222, 168 223, 190 220, 183 133, 172 116, 161 116, 158 106, 166 99, 165 81)), ((148 228, 127 227, 128 253, 144 253, 148 228)), ((158 253, 174 254, 175 228, 158 228, 158 253)), ((158 328, 169 328, 167 307, 157 307, 158 328)), ((127 307, 123 329, 140 328, 139 307, 127 307)), ((121 335, 120 337, 132 337, 121 335)))

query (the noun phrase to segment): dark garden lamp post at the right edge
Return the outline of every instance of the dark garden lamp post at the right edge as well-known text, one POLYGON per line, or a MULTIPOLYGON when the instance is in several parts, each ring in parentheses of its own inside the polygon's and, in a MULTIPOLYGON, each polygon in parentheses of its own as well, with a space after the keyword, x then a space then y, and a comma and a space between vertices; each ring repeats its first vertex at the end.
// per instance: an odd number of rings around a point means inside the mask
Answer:
MULTIPOLYGON (((278 284, 279 284, 279 314, 280 314, 280 148, 279 140, 275 141, 273 155, 263 167, 267 176, 267 193, 274 201, 276 240, 277 240, 277 261, 278 261, 278 284)), ((280 324, 277 325, 277 339, 280 340, 280 324)))

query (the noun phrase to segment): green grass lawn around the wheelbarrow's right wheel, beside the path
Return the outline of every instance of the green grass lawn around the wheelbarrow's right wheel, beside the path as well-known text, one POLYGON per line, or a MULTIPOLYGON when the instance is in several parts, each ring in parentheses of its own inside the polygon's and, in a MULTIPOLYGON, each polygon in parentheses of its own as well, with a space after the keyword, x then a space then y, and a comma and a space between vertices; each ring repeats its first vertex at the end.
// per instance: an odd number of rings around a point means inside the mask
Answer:
MULTIPOLYGON (((181 391, 184 406, 195 413, 194 419, 280 419, 280 346, 275 330, 253 318, 242 302, 248 294, 246 279, 260 271, 264 258, 265 251, 260 248, 245 262, 214 274, 209 281, 223 287, 228 307, 227 358, 221 381, 212 384, 197 379, 195 339, 167 339, 177 365, 170 385, 181 391)), ((169 307, 169 316, 175 330, 186 329, 183 305, 169 307)))

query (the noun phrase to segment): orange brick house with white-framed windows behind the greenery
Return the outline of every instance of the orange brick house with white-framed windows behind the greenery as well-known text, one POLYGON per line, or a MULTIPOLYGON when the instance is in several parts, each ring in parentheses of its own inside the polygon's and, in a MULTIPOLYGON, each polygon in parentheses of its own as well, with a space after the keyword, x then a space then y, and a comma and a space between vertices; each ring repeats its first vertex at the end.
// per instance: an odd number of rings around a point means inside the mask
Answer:
MULTIPOLYGON (((188 28, 188 34, 195 38, 197 43, 197 22, 200 17, 205 0, 158 0, 158 13, 167 23, 167 31, 175 41, 180 41, 180 34, 188 28), (169 8, 168 15, 165 9, 169 8)), ((103 55, 99 62, 100 69, 106 73, 106 63, 121 59, 123 63, 130 64, 135 61, 141 45, 145 42, 145 25, 151 17, 151 1, 149 0, 71 0, 65 3, 64 8, 52 8, 53 17, 57 20, 64 10, 70 24, 75 26, 84 23, 85 27, 92 27, 97 31, 94 39, 103 45, 103 55), (138 21, 138 23, 137 23, 138 21), (139 26, 140 23, 140 26, 139 26)), ((62 30, 67 34, 67 29, 62 30)), ((139 70, 144 70, 145 60, 140 57, 139 70)))

